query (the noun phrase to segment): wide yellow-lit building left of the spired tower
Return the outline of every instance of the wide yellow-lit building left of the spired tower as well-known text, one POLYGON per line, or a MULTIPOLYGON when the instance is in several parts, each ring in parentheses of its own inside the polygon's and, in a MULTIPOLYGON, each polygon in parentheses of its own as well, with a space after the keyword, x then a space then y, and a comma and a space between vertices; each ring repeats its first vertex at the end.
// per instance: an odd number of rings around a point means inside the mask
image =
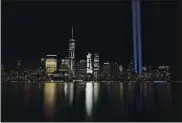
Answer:
POLYGON ((47 74, 52 74, 57 71, 57 55, 46 56, 45 68, 47 74))

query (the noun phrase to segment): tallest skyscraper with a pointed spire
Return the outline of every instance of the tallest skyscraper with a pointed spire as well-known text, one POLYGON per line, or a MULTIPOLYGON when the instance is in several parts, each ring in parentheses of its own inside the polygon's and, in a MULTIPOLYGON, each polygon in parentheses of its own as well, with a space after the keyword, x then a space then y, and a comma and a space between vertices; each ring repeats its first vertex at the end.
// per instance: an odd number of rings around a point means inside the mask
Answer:
POLYGON ((75 75, 75 39, 73 34, 73 27, 72 27, 72 36, 69 40, 69 49, 68 49, 68 58, 70 59, 70 68, 73 75, 75 75))

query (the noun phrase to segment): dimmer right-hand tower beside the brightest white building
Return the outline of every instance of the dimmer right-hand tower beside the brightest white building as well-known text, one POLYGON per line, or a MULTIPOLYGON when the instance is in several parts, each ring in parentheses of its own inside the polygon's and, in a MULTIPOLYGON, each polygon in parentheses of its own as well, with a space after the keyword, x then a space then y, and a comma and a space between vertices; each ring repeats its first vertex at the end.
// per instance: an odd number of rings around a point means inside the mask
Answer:
POLYGON ((99 76, 99 55, 96 53, 94 54, 94 77, 98 78, 99 76))

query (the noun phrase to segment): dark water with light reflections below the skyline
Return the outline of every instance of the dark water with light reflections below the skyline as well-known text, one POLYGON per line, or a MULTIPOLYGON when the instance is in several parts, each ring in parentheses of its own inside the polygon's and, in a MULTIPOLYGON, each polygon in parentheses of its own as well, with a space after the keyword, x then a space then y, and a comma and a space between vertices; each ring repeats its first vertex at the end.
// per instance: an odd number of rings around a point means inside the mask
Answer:
POLYGON ((181 83, 1 87, 2 121, 182 121, 181 83))

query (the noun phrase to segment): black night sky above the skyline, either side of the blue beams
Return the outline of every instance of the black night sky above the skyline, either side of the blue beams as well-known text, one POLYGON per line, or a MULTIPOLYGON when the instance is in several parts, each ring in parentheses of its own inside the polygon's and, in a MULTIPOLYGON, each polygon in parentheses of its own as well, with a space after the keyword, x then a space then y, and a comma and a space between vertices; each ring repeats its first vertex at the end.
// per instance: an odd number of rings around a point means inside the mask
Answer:
MULTIPOLYGON (((142 2, 143 63, 169 64, 180 70, 179 2, 142 2)), ((76 59, 87 52, 102 61, 127 66, 133 59, 131 3, 5 2, 2 8, 2 63, 39 60, 46 54, 68 55, 74 26, 76 59)), ((6 67, 5 66, 5 67, 6 67)))

